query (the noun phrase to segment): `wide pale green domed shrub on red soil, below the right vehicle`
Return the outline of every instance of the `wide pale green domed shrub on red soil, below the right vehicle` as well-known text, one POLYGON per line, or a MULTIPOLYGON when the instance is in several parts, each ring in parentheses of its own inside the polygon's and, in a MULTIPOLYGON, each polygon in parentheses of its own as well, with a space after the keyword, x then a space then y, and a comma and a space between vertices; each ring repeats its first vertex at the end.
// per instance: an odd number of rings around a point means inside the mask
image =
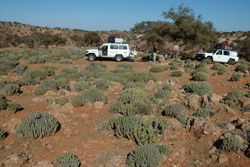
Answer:
POLYGON ((213 86, 207 82, 191 82, 191 83, 182 85, 182 88, 187 93, 194 93, 199 96, 202 96, 205 94, 208 94, 208 95, 213 94, 213 86))

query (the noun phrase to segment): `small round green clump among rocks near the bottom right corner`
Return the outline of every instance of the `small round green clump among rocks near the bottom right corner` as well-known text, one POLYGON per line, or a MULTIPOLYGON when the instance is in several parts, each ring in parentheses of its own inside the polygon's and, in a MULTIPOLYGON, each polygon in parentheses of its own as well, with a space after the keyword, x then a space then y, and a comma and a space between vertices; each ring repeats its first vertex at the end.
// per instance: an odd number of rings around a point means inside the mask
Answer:
POLYGON ((238 151, 243 147, 241 141, 234 135, 223 139, 221 149, 224 151, 238 151))

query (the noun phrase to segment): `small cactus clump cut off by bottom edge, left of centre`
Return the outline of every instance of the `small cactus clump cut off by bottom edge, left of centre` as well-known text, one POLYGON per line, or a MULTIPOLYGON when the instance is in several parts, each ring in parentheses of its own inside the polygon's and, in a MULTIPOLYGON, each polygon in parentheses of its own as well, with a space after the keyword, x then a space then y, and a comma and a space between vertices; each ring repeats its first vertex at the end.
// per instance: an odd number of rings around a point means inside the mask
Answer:
POLYGON ((79 167, 81 165, 77 156, 74 153, 62 153, 55 158, 56 167, 79 167))

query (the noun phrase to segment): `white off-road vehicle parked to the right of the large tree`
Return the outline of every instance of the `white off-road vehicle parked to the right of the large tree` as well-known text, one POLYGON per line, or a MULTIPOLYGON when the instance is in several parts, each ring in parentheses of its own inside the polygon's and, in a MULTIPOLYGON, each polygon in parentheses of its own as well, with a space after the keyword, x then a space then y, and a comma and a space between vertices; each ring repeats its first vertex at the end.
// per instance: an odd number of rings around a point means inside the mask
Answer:
POLYGON ((198 53, 196 54, 197 60, 208 59, 211 62, 221 62, 221 63, 229 63, 233 64, 233 62, 238 61, 238 53, 237 51, 233 51, 230 49, 213 49, 209 53, 198 53))

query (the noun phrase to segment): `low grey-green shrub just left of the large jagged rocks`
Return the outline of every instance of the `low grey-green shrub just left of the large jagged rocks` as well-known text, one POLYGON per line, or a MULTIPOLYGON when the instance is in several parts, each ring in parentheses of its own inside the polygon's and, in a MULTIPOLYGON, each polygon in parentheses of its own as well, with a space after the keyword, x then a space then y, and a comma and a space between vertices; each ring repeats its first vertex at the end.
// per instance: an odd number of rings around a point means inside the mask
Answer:
POLYGON ((182 110, 184 109, 185 107, 183 105, 174 104, 166 107, 163 111, 163 114, 174 118, 180 118, 182 115, 182 110))

